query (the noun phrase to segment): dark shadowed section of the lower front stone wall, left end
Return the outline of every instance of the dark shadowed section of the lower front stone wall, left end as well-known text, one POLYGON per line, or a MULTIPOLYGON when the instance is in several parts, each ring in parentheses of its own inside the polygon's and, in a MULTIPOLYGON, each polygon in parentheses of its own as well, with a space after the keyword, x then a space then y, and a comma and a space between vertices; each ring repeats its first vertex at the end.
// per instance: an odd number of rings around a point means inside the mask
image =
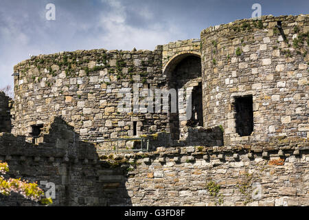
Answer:
MULTIPOLYGON (((53 118, 37 145, 1 133, 0 160, 8 162, 10 177, 54 183, 54 206, 132 206, 125 186, 128 166, 100 161, 95 146, 79 139, 72 126, 53 118)), ((0 197, 0 206, 34 205, 19 195, 0 197)))

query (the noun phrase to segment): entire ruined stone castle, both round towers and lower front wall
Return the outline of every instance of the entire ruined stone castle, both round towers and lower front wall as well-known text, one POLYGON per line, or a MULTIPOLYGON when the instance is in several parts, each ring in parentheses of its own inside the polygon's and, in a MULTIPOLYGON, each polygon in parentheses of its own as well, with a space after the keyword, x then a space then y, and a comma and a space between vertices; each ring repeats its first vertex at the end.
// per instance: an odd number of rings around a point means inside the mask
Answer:
MULTIPOLYGON (((0 160, 54 182, 56 205, 308 206, 308 32, 308 15, 264 16, 154 51, 33 56, 14 102, 0 94, 0 160), (125 97, 137 111, 119 111, 125 97), (148 151, 125 153, 139 137, 148 151)), ((30 204, 0 203, 16 198, 30 204)))

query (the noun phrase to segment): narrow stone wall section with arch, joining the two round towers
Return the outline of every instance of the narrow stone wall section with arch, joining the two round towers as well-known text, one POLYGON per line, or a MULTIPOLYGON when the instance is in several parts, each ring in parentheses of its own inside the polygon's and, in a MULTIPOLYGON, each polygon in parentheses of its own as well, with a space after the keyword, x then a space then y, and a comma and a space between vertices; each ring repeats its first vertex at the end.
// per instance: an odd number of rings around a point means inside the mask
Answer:
MULTIPOLYGON (((170 42, 163 45, 162 51, 162 68, 163 76, 167 78, 168 88, 183 89, 183 100, 177 98, 179 103, 183 104, 183 109, 177 109, 176 113, 168 114, 170 120, 170 132, 174 140, 185 140, 187 128, 194 126, 203 126, 203 123, 198 124, 196 111, 192 112, 192 117, 186 115, 187 96, 195 91, 198 83, 201 83, 201 41, 199 39, 190 39, 185 41, 170 42), (193 122, 193 123, 191 123, 193 122)), ((194 101, 202 103, 201 96, 192 94, 192 104, 194 101), (198 98, 196 98, 198 97, 198 98), (198 100, 200 99, 200 100, 198 100)), ((178 94, 178 97, 180 93, 178 94)), ((193 108, 195 110, 195 108, 193 108)), ((203 118, 202 104, 198 109, 203 118)), ((202 120, 203 121, 203 120, 202 120)))

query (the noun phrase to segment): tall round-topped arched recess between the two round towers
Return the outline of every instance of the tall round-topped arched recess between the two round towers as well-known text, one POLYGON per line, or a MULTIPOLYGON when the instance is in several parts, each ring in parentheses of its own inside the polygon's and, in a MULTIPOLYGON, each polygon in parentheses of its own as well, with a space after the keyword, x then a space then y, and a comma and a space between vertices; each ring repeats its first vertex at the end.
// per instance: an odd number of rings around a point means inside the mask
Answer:
MULTIPOLYGON (((183 89, 185 92, 189 91, 192 94, 192 103, 190 103, 192 107, 191 118, 187 118, 185 116, 186 112, 179 109, 179 102, 177 102, 176 113, 172 113, 172 109, 168 113, 172 138, 182 140, 188 127, 203 126, 201 54, 198 52, 176 54, 165 65, 163 73, 168 80, 169 89, 176 89, 176 91, 183 89)), ((184 103, 187 101, 187 95, 185 94, 184 103)), ((178 93, 177 101, 179 101, 178 93)), ((172 104, 171 101, 170 104, 172 104)), ((187 108, 187 104, 189 103, 185 103, 185 108, 187 108)))

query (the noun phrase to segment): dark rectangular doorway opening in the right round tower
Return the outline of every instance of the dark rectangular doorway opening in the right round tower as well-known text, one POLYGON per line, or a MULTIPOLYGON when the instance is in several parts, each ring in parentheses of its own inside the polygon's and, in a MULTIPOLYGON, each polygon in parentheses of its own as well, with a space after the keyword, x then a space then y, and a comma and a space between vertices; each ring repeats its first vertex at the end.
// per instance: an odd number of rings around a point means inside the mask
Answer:
POLYGON ((240 136, 249 136, 253 132, 253 97, 235 98, 236 132, 240 136))

